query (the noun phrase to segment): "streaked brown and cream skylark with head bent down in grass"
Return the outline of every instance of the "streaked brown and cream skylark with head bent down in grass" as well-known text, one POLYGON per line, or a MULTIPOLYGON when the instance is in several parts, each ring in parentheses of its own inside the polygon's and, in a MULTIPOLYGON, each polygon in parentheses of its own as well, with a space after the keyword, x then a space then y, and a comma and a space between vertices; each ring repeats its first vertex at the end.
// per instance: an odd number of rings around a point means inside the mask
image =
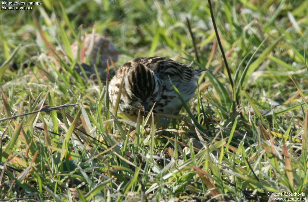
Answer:
POLYGON ((162 114, 177 114, 183 105, 171 82, 188 102, 200 72, 166 57, 136 58, 116 71, 108 86, 109 98, 115 105, 120 94, 118 109, 135 122, 139 111, 146 116, 154 105, 153 113, 159 114, 154 116, 156 127, 166 126, 170 120, 162 114))

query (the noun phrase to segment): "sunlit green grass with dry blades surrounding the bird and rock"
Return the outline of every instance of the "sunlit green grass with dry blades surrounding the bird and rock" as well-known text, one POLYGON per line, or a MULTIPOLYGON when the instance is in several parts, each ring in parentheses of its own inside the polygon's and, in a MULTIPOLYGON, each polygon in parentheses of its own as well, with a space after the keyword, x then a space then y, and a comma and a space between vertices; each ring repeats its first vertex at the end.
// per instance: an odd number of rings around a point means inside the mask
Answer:
POLYGON ((44 0, 0 10, 0 119, 29 113, 0 121, 0 201, 308 197, 308 1, 212 6, 233 88, 205 1, 44 0), (133 123, 109 103, 104 81, 45 54, 61 46, 71 56, 70 44, 93 29, 118 48, 117 67, 157 55, 213 71, 168 128, 133 123))

